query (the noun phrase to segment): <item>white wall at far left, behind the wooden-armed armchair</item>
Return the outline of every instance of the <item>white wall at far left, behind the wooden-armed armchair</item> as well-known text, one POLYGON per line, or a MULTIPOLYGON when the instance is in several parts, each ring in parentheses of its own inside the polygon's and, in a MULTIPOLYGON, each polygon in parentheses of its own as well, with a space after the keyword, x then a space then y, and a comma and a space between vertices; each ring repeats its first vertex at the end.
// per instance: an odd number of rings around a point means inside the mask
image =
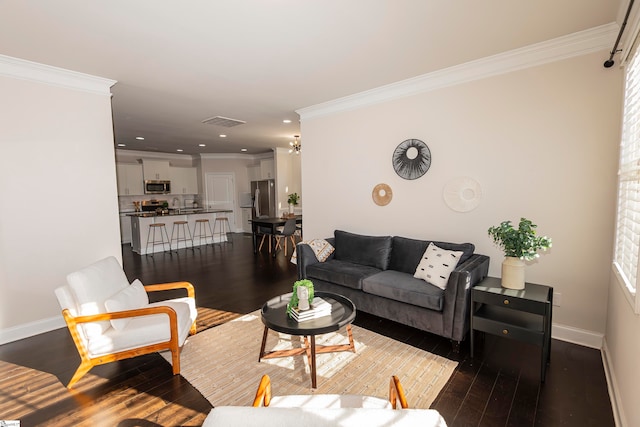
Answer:
POLYGON ((64 325, 54 289, 121 248, 111 83, 95 93, 14 78, 0 59, 3 343, 64 325))

